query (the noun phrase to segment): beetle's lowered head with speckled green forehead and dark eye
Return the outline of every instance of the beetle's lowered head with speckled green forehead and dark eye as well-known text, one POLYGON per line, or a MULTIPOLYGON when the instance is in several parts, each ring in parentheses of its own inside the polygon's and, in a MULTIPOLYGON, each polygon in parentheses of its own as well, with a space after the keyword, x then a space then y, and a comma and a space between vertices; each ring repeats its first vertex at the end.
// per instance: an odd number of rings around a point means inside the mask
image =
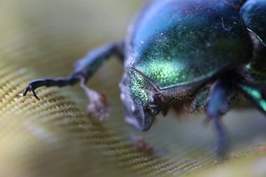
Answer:
POLYGON ((135 128, 146 131, 155 115, 165 107, 165 99, 150 80, 135 69, 125 73, 120 83, 125 120, 135 128))

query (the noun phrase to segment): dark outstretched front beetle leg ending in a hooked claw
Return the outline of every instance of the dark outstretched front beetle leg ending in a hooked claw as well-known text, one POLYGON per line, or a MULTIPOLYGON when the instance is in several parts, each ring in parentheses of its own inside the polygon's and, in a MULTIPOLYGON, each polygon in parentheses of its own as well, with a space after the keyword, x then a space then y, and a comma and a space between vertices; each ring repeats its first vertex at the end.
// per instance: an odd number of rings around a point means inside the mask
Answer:
POLYGON ((102 45, 101 47, 88 52, 83 59, 78 60, 78 62, 75 64, 75 69, 68 78, 45 78, 41 80, 33 80, 24 90, 23 96, 30 91, 36 99, 39 99, 34 91, 38 87, 64 87, 66 85, 74 85, 78 83, 80 79, 85 80, 85 83, 87 79, 89 79, 92 74, 99 69, 99 66, 101 66, 107 59, 111 57, 111 55, 116 54, 120 58, 123 58, 123 48, 123 42, 102 45))

